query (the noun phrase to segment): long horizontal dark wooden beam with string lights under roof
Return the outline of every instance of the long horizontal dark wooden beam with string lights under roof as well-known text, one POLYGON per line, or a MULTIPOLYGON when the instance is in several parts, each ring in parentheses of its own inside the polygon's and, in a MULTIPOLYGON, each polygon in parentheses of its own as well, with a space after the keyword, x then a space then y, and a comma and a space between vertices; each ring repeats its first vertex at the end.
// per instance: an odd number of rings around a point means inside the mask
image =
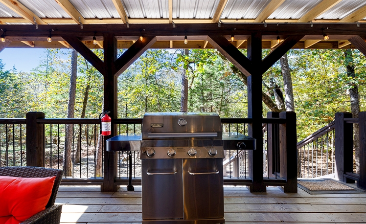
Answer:
MULTIPOLYGON (((200 35, 251 35, 253 32, 260 32, 262 35, 318 35, 323 34, 323 28, 328 27, 326 33, 329 37, 332 35, 360 35, 366 33, 366 23, 356 24, 350 23, 221 23, 218 27, 215 23, 176 23, 176 27, 171 24, 130 24, 127 28, 126 24, 85 24, 80 29, 78 24, 70 25, 39 25, 38 29, 34 25, 8 25, 0 24, 0 29, 6 29, 8 36, 22 37, 46 37, 49 30, 52 31, 52 37, 92 37, 103 36, 104 33, 113 33, 114 36, 200 36, 200 35), (311 26, 312 25, 312 26, 311 26), (233 31, 234 30, 234 31, 233 31)), ((344 40, 346 40, 345 38, 344 40)))

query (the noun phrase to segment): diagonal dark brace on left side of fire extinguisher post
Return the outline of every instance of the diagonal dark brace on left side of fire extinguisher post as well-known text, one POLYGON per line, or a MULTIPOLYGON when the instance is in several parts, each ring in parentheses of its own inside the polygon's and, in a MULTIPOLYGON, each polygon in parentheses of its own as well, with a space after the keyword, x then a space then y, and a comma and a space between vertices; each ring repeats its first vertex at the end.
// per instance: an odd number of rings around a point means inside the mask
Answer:
POLYGON ((95 67, 102 75, 104 75, 104 62, 98 58, 86 45, 84 45, 77 37, 63 37, 79 54, 81 54, 93 67, 95 67))

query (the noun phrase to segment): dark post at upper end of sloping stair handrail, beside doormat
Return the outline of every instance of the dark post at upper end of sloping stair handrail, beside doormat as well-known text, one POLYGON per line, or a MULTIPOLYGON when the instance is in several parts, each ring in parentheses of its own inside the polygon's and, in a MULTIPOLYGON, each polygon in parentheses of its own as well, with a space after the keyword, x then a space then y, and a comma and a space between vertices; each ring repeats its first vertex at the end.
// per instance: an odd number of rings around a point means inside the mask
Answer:
POLYGON ((352 113, 336 113, 335 117, 336 177, 343 182, 354 183, 355 180, 344 177, 346 172, 353 171, 353 125, 344 122, 344 118, 352 118, 352 113))

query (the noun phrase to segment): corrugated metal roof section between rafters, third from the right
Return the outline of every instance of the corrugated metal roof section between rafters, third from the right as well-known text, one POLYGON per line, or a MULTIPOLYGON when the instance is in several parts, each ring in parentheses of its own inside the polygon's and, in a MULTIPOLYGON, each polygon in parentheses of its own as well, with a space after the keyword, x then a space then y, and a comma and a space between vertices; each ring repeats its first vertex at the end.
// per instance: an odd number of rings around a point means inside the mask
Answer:
POLYGON ((255 19, 271 0, 229 0, 221 19, 255 19))

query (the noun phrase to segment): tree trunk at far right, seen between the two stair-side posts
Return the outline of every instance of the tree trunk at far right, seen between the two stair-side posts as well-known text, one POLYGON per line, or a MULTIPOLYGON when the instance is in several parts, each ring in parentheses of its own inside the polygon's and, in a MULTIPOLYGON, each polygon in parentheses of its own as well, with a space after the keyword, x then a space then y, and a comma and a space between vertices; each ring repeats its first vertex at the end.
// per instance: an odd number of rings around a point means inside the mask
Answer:
MULTIPOLYGON (((353 56, 352 56, 352 50, 346 49, 344 50, 344 56, 345 56, 345 64, 347 69, 347 76, 352 77, 352 79, 355 79, 355 66, 353 64, 353 56)), ((360 112, 360 96, 358 94, 358 86, 357 84, 353 83, 350 84, 349 89, 349 98, 351 101, 351 112, 352 117, 358 118, 358 113, 360 112)), ((360 173, 360 133, 359 133, 359 126, 358 124, 353 124, 353 148, 355 151, 355 162, 356 162, 356 173, 360 173)))

